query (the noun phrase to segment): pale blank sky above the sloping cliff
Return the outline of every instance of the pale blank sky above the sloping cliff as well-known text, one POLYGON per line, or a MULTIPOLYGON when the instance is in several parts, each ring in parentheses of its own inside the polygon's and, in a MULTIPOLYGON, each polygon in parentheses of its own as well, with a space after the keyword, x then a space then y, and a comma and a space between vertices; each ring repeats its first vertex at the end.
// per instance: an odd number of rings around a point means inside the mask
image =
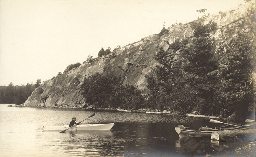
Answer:
POLYGON ((1 0, 0 86, 35 84, 70 64, 244 0, 1 0))

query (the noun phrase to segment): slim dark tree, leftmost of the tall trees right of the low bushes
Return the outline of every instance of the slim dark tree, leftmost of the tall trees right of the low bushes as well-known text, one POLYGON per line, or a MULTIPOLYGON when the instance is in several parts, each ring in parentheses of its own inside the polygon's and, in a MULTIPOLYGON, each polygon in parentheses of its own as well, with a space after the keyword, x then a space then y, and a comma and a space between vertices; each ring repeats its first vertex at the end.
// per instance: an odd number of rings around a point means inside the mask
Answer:
MULTIPOLYGON (((168 51, 168 50, 167 50, 168 51)), ((160 47, 155 55, 155 60, 160 65, 146 77, 150 89, 150 103, 151 108, 158 108, 159 110, 166 110, 170 108, 170 95, 174 89, 174 74, 176 67, 174 66, 174 54, 167 53, 160 47)))

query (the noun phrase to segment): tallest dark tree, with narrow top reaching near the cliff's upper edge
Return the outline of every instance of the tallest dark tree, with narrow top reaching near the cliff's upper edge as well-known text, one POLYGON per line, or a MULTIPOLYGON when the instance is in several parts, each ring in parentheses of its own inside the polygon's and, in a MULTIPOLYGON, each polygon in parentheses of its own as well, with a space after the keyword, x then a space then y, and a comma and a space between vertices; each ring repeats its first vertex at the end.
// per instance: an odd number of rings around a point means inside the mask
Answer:
POLYGON ((203 25, 194 23, 192 26, 194 38, 191 44, 182 46, 180 55, 187 59, 182 69, 186 72, 186 84, 191 88, 191 95, 196 98, 198 110, 213 114, 217 70, 215 56, 216 42, 210 33, 216 24, 210 22, 203 25))

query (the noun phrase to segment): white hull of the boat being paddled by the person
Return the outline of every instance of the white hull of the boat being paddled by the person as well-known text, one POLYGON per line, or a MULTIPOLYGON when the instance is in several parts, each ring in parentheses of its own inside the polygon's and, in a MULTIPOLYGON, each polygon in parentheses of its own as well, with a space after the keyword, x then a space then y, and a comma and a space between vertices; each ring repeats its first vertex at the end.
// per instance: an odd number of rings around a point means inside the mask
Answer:
MULTIPOLYGON (((115 123, 109 123, 109 124, 81 124, 76 125, 72 128, 70 128, 67 131, 89 131, 89 130, 110 130, 115 123)), ((62 126, 43 126, 43 131, 63 131, 69 128, 69 125, 62 125, 62 126)))

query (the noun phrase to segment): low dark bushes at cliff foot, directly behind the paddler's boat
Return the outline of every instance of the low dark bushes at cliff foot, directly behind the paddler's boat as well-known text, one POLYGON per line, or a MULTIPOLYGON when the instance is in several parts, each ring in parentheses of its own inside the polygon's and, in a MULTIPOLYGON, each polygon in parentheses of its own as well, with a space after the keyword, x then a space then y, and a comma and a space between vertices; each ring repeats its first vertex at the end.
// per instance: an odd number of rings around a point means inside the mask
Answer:
POLYGON ((121 77, 103 76, 95 73, 87 76, 82 84, 82 94, 86 102, 96 108, 134 108, 139 109, 144 97, 135 86, 123 86, 121 77))

